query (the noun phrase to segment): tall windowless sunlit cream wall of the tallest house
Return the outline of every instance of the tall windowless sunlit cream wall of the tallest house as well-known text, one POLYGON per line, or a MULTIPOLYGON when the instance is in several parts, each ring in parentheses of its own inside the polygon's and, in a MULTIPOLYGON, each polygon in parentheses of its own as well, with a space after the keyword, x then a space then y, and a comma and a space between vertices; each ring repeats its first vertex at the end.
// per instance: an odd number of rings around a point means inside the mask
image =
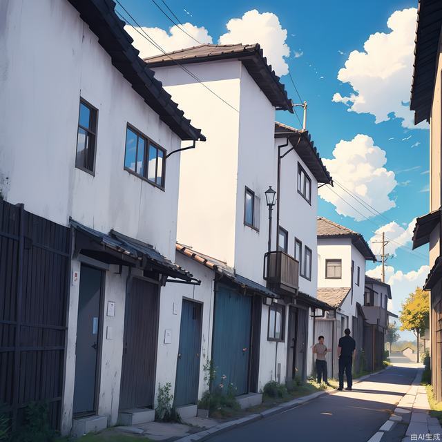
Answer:
MULTIPOLYGON (((240 61, 216 61, 187 68, 239 110, 241 66, 240 61)), ((155 68, 155 73, 207 137, 182 155, 177 240, 233 266, 239 114, 178 66, 155 68)))

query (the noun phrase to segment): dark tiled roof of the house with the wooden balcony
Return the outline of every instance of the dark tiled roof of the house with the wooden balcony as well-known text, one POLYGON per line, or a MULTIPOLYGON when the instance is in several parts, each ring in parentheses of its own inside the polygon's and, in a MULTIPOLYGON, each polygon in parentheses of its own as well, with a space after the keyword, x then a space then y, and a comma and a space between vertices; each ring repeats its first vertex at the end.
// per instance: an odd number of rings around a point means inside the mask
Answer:
POLYGON ((291 144, 293 144, 301 160, 307 164, 316 180, 320 183, 332 184, 332 177, 329 171, 327 171, 323 160, 321 160, 314 142, 311 140, 309 131, 298 131, 298 129, 286 124, 275 122, 275 137, 287 137, 287 135, 291 135, 289 137, 291 144))

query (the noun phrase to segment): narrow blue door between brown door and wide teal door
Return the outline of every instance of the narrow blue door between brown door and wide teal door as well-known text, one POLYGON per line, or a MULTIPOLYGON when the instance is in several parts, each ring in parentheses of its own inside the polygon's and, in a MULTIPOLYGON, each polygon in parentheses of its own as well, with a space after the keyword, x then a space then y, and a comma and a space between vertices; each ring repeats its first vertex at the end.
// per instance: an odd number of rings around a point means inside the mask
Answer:
POLYGON ((201 305, 183 299, 175 382, 175 406, 195 404, 198 401, 200 352, 201 305))

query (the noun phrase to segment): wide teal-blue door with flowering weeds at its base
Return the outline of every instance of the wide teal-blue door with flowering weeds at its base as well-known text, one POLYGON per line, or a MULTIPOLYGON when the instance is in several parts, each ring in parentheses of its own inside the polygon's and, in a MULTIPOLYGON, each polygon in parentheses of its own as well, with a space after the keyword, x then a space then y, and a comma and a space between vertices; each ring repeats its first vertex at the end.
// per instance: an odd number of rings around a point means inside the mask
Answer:
POLYGON ((213 322, 212 355, 216 372, 213 387, 222 384, 227 389, 233 384, 238 396, 249 389, 251 298, 224 285, 217 287, 213 322))

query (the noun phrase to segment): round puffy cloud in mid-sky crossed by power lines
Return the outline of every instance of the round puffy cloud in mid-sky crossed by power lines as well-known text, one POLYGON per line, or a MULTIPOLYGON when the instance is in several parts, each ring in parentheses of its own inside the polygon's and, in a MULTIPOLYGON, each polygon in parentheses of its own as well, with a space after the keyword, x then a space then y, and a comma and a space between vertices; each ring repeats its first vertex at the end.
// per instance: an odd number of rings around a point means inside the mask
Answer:
POLYGON ((375 206, 381 213, 396 206, 389 197, 397 184, 394 172, 385 169, 385 151, 374 145, 372 137, 358 134, 353 140, 340 140, 334 148, 333 158, 323 159, 323 162, 336 180, 336 185, 334 189, 330 189, 329 186, 321 187, 319 194, 323 200, 334 204, 336 212, 340 215, 351 216, 358 221, 365 219, 363 215, 374 216, 341 189, 339 184, 371 206, 375 206))

